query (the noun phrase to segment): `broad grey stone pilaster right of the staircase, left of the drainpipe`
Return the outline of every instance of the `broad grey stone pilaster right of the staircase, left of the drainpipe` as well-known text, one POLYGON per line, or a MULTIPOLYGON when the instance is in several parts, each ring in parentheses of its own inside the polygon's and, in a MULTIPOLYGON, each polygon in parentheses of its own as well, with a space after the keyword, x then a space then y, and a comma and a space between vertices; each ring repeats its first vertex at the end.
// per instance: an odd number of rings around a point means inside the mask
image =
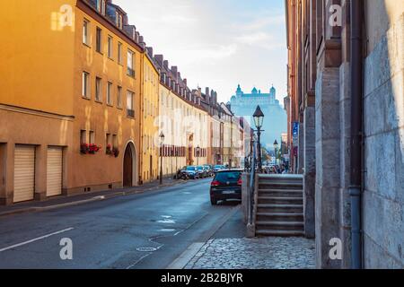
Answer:
POLYGON ((316 82, 315 231, 318 268, 340 268, 329 258, 329 240, 339 238, 339 69, 322 68, 316 82))

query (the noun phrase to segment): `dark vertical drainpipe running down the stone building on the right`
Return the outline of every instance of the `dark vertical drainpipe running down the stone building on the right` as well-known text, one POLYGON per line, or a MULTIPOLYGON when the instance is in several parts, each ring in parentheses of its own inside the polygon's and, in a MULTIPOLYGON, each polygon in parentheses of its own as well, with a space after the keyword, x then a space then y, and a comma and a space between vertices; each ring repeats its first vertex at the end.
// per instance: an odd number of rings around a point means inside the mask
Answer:
POLYGON ((362 146, 363 146, 363 0, 350 1, 351 162, 351 267, 362 269, 362 146))

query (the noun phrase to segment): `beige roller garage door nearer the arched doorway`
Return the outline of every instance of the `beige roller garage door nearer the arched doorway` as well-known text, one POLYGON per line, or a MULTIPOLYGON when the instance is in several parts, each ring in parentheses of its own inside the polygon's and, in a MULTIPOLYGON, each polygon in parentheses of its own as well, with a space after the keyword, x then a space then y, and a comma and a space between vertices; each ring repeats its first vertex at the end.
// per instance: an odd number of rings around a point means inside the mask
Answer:
POLYGON ((63 150, 48 147, 47 196, 62 194, 63 150))

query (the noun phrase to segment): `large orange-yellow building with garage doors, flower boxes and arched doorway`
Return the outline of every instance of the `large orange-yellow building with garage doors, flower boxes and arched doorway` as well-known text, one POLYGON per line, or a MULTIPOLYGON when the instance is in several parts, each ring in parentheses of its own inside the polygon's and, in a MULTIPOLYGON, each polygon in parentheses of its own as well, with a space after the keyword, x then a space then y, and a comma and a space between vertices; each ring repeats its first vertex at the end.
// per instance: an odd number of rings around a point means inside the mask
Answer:
POLYGON ((109 5, 4 4, 0 204, 138 183, 143 48, 109 5))

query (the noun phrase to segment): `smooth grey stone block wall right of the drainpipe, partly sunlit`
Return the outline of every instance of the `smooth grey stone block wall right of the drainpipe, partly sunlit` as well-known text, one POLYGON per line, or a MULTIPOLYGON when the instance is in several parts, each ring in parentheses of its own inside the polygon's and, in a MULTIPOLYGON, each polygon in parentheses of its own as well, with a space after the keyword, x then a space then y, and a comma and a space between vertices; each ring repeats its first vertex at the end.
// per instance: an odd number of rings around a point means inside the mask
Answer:
POLYGON ((404 14, 364 63, 364 266, 404 267, 404 14))

